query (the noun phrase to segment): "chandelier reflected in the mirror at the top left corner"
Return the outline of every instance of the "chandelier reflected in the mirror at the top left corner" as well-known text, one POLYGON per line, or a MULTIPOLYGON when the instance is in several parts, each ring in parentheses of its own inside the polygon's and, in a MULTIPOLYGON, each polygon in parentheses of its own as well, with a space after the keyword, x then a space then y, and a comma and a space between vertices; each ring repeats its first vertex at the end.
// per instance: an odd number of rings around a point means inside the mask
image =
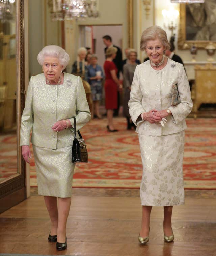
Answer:
POLYGON ((15 0, 0 0, 0 20, 2 23, 13 19, 15 0))

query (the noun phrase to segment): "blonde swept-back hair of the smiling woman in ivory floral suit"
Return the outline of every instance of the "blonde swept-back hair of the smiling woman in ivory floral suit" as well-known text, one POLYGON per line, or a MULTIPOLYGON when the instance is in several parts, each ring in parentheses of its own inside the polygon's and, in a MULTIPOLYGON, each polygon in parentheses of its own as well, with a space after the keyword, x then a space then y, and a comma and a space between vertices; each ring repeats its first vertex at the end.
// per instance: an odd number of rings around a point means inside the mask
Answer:
POLYGON ((165 50, 170 49, 170 44, 167 39, 166 31, 164 31, 159 26, 151 26, 146 28, 142 32, 141 40, 140 40, 140 50, 144 51, 146 49, 148 40, 159 39, 162 45, 165 47, 165 50))

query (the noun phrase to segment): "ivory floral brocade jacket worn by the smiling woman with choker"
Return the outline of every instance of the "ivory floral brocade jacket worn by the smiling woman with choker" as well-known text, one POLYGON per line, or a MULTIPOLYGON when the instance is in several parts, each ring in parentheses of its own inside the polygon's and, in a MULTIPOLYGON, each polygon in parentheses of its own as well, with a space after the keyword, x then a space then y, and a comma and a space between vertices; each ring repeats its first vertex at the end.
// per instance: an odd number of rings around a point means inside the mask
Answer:
POLYGON ((138 134, 161 136, 183 131, 187 128, 185 118, 191 112, 191 100, 188 79, 182 64, 168 58, 166 66, 154 70, 150 60, 137 65, 131 85, 129 113, 138 134), (181 103, 171 106, 172 85, 177 84, 181 103), (151 124, 142 121, 139 116, 152 109, 170 109, 165 127, 160 122, 151 124))

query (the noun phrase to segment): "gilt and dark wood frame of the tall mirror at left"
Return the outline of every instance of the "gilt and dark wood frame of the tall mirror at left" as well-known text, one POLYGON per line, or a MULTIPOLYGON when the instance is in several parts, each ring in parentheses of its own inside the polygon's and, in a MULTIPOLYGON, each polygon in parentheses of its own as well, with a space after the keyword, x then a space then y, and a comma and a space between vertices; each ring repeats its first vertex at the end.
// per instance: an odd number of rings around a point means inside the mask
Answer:
POLYGON ((26 199, 26 165, 19 147, 21 114, 25 106, 24 0, 16 0, 16 40, 18 173, 0 183, 0 213, 26 199))

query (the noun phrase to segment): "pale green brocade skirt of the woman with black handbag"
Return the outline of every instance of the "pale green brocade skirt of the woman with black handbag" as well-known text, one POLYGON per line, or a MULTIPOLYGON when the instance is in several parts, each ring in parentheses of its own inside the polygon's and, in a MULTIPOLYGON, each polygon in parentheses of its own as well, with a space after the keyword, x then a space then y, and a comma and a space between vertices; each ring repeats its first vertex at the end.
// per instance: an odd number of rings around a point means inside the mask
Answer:
POLYGON ((72 146, 50 149, 33 145, 33 152, 38 194, 71 197, 75 167, 72 163, 72 146))

